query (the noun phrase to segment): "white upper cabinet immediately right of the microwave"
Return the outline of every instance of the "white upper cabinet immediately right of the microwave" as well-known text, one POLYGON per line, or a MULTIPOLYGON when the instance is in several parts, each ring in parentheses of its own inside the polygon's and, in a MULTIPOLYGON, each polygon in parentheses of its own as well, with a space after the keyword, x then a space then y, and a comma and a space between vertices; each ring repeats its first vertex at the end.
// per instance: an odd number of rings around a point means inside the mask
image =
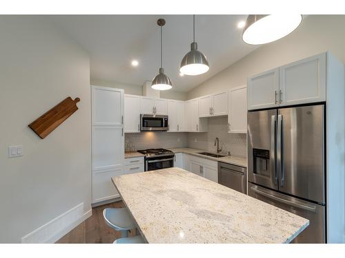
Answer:
POLYGON ((168 100, 169 131, 184 131, 184 101, 168 100))

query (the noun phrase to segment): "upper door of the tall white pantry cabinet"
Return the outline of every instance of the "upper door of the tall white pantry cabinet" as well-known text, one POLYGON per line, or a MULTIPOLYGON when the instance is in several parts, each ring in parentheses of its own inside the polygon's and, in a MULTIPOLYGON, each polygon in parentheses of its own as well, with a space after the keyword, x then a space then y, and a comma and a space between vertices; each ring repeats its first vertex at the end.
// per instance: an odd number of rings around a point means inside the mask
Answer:
POLYGON ((123 125, 124 90, 92 86, 92 125, 123 125))

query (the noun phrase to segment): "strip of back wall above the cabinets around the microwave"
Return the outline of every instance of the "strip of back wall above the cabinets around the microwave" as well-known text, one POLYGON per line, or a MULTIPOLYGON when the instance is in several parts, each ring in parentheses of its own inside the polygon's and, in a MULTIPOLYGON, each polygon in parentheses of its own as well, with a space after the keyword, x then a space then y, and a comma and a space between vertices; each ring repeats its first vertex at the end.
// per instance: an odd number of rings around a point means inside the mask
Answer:
MULTIPOLYGON (((104 87, 114 87, 117 89, 124 89, 125 94, 133 94, 133 95, 140 95, 140 96, 143 94, 141 85, 130 85, 130 84, 126 84, 126 83, 110 82, 110 81, 101 80, 101 79, 94 79, 94 78, 91 78, 91 85, 104 86, 104 87)), ((161 98, 169 98, 172 100, 186 100, 187 93, 186 92, 175 92, 172 90, 161 91, 161 98)))

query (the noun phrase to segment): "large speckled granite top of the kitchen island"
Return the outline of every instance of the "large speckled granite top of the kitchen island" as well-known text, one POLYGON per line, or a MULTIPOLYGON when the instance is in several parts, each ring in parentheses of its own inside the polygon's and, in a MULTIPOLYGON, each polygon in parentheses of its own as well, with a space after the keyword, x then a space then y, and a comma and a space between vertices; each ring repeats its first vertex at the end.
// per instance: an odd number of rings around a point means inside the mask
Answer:
POLYGON ((288 243, 309 224, 184 169, 112 181, 148 243, 288 243))

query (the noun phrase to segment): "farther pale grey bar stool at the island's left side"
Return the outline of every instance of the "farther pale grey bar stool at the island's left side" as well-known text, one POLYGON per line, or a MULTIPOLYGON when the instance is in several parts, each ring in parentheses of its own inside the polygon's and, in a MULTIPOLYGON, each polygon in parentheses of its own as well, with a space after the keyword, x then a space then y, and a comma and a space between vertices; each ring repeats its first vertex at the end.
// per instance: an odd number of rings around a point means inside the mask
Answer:
POLYGON ((135 222, 126 208, 105 208, 103 210, 103 217, 110 228, 121 231, 122 238, 128 237, 128 230, 136 228, 135 222))

